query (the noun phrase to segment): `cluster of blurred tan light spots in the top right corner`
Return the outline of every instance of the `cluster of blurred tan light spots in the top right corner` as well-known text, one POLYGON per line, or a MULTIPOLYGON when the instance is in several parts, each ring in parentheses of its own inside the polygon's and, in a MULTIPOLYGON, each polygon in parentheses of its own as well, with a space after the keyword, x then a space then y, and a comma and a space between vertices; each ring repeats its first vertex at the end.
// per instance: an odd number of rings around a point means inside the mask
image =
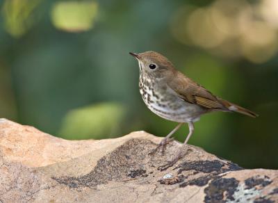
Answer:
POLYGON ((250 4, 218 0, 206 7, 189 8, 178 10, 173 17, 171 31, 179 42, 226 58, 246 58, 252 63, 265 63, 275 56, 278 49, 276 1, 250 4))

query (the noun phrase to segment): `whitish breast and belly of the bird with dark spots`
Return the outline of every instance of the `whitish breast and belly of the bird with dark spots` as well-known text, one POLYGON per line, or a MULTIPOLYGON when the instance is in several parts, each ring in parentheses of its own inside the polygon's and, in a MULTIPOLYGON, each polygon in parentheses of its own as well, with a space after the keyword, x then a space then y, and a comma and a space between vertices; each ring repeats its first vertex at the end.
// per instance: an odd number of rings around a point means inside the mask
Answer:
POLYGON ((183 101, 166 84, 140 76, 139 89, 147 107, 156 115, 174 122, 189 122, 199 119, 202 108, 183 101))

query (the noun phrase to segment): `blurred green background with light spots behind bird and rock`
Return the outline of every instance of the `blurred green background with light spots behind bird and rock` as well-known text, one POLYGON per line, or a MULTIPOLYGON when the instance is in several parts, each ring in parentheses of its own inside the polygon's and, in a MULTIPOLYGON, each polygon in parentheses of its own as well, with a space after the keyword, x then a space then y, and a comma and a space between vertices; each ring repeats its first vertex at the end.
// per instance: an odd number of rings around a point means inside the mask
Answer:
POLYGON ((278 168, 277 0, 0 2, 0 117, 67 139, 165 136, 176 124, 147 109, 128 54, 153 50, 260 115, 204 115, 190 144, 278 168))

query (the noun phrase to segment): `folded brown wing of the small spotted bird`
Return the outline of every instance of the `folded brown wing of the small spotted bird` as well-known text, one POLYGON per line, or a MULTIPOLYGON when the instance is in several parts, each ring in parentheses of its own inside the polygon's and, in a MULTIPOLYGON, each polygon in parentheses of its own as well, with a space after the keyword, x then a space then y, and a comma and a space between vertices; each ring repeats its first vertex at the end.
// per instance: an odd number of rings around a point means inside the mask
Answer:
POLYGON ((176 78, 170 81, 168 86, 174 90, 181 99, 190 104, 196 104, 208 110, 228 110, 222 103, 222 99, 218 99, 218 97, 215 97, 211 92, 206 90, 206 88, 195 83, 192 79, 188 79, 180 72, 177 72, 176 78))

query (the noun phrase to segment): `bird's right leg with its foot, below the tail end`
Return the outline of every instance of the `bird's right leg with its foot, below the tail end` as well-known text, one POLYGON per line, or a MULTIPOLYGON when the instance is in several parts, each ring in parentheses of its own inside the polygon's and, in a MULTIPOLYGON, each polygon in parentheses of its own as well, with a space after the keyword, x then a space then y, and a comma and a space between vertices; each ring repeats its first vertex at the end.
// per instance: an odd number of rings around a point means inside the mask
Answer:
POLYGON ((193 132, 194 132, 194 124, 193 122, 188 122, 188 127, 189 127, 189 133, 188 136, 186 137, 186 140, 184 141, 183 145, 179 148, 179 152, 177 153, 177 156, 174 157, 174 159, 172 161, 169 161, 169 163, 165 164, 165 165, 161 165, 158 167, 158 170, 167 170, 167 168, 170 168, 171 166, 174 165, 174 163, 177 163, 177 161, 179 161, 179 159, 181 159, 181 157, 183 156, 183 154, 186 154, 186 152, 183 152, 183 149, 186 148, 187 151, 187 143, 189 138, 192 136, 193 132))

